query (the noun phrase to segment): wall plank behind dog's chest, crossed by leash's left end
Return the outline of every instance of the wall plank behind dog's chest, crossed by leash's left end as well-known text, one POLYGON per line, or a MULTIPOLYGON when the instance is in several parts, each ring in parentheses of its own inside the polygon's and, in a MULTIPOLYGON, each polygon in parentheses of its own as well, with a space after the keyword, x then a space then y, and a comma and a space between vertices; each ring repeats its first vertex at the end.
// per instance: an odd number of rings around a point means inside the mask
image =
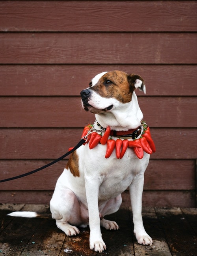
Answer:
MULTIPOLYGON (((1 160, 0 180, 32 171, 49 160, 1 160)), ((53 190, 67 160, 39 173, 1 183, 1 190, 53 190), (42 182, 40 182, 42 181, 42 182)), ((151 159, 145 172, 144 190, 194 190, 195 160, 151 159), (169 178, 170 177, 170 178, 169 178)))

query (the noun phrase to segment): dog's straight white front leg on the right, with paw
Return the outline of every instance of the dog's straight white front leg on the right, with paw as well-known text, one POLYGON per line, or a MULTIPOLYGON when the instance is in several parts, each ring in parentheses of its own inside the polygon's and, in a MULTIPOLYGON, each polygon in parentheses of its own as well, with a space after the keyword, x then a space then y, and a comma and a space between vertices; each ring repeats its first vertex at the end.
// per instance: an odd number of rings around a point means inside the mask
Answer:
POLYGON ((139 174, 134 178, 132 184, 129 186, 133 222, 134 222, 134 234, 139 244, 152 245, 152 238, 146 233, 143 220, 141 216, 141 201, 144 184, 144 175, 139 174))

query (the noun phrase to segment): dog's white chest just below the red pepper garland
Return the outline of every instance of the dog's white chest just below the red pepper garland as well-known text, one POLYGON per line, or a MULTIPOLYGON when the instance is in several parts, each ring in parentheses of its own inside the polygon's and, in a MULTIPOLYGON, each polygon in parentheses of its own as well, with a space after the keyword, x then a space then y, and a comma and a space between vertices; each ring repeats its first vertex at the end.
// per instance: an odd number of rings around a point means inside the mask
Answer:
MULTIPOLYGON (((105 147, 100 146, 100 148, 105 147)), ((102 156, 102 150, 89 150, 89 153, 90 155, 86 152, 83 156, 84 176, 88 176, 89 180, 92 178, 99 180, 100 200, 110 199, 125 191, 134 177, 141 172, 141 163, 131 149, 127 150, 123 159, 117 159, 115 152, 108 159, 102 156)))

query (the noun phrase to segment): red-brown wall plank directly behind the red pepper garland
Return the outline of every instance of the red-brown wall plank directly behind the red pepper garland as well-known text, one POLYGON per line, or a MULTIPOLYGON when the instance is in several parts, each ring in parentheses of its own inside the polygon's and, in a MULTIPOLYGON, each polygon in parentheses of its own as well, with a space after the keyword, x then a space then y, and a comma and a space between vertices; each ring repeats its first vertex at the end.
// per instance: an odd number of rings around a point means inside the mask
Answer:
MULTIPOLYGON (((82 129, 0 129, 0 159, 56 159, 80 140, 82 129)), ((151 128, 151 159, 195 159, 195 128, 151 128)))

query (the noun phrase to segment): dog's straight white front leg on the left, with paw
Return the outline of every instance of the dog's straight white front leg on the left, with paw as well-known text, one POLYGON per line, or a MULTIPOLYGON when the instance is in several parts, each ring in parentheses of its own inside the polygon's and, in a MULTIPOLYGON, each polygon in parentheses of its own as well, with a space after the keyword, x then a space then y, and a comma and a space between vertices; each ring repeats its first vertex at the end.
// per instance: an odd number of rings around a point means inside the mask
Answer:
POLYGON ((96 252, 102 252, 106 249, 106 245, 102 240, 102 234, 100 231, 100 216, 99 216, 99 178, 86 177, 85 178, 85 190, 89 212, 89 228, 90 237, 89 244, 90 249, 96 252))

